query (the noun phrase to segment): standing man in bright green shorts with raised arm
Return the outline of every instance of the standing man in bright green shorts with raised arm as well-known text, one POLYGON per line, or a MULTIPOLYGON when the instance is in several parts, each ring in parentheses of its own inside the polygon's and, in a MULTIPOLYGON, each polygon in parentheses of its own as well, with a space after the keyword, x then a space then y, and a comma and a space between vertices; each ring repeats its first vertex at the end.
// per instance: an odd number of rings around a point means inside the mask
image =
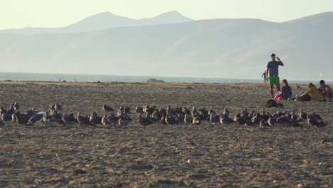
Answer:
POLYGON ((285 66, 279 57, 277 57, 278 61, 275 61, 275 54, 273 53, 270 55, 272 58, 272 61, 268 62, 267 64, 267 70, 266 70, 266 77, 268 80, 268 83, 270 84, 270 96, 272 99, 274 98, 274 84, 276 85, 277 92, 279 92, 280 89, 280 78, 279 78, 279 66, 285 66), (268 76, 268 73, 270 74, 268 76))

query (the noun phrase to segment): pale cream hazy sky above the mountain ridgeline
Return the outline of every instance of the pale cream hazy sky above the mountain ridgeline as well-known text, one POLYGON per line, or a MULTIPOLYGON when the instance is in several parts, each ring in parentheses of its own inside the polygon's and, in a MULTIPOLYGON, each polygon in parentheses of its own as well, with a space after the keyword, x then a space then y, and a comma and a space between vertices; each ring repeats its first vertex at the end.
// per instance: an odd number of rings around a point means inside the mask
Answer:
POLYGON ((142 19, 172 10, 191 19, 281 22, 333 11, 333 0, 0 0, 0 29, 67 26, 102 11, 142 19))

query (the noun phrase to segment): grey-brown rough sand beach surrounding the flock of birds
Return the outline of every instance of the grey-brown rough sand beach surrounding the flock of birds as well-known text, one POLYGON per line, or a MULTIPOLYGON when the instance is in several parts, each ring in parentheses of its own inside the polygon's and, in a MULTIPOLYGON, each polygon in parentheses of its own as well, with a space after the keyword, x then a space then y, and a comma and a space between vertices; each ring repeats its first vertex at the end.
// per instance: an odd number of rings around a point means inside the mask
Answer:
MULTIPOLYGON (((292 85, 293 93, 305 91, 292 85)), ((151 125, 136 106, 206 108, 231 115, 264 107, 268 86, 201 83, 0 82, 0 106, 18 101, 22 112, 103 115, 102 105, 132 108, 127 127, 78 124, 0 127, 0 187, 332 187, 333 103, 283 101, 295 112, 319 113, 316 128, 231 125, 151 125), (191 87, 191 88, 189 88, 191 87)), ((281 110, 270 108, 271 113, 281 110)))

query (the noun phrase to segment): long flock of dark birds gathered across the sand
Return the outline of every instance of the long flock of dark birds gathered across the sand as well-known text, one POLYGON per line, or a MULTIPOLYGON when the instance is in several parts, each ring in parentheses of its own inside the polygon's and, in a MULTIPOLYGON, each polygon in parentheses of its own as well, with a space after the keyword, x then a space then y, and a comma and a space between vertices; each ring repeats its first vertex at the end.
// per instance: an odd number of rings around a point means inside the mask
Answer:
MULTIPOLYGON (((62 125, 78 123, 79 125, 119 125, 125 127, 132 120, 129 116, 131 110, 129 107, 124 108, 120 106, 117 110, 110 108, 108 105, 103 105, 102 110, 109 115, 100 117, 97 113, 93 112, 91 115, 81 115, 80 112, 75 115, 60 114, 58 113, 63 108, 58 103, 51 104, 48 111, 40 111, 35 108, 28 110, 26 113, 20 113, 18 103, 11 103, 9 110, 0 108, 0 125, 5 125, 4 122, 12 121, 20 125, 34 125, 40 123, 41 125, 46 122, 58 122, 62 125), (115 112, 115 113, 113 113, 115 112)), ((135 108, 135 113, 139 114, 137 122, 139 125, 146 127, 147 125, 160 124, 160 125, 199 125, 201 122, 206 121, 208 124, 223 124, 229 125, 236 123, 245 126, 258 126, 258 127, 271 127, 274 125, 289 125, 292 127, 301 127, 302 121, 314 127, 324 127, 327 125, 322 117, 316 113, 307 114, 303 111, 299 113, 292 113, 287 111, 277 111, 276 113, 266 112, 265 109, 255 113, 254 110, 242 110, 231 118, 231 114, 227 108, 224 108, 221 113, 216 114, 214 110, 205 110, 204 108, 157 108, 155 106, 135 108)))

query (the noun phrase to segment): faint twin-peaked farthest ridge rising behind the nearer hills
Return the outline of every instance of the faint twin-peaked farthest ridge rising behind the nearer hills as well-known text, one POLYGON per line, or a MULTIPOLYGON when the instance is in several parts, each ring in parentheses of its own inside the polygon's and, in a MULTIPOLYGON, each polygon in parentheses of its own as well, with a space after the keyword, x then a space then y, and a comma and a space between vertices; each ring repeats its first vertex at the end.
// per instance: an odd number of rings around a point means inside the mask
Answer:
POLYGON ((155 16, 149 19, 129 19, 123 16, 117 16, 110 12, 102 12, 89 16, 81 21, 70 24, 69 26, 61 28, 13 28, 0 30, 0 33, 12 33, 12 34, 58 34, 58 33, 80 33, 89 31, 104 30, 107 28, 117 28, 125 26, 147 26, 147 25, 159 25, 166 23, 182 23, 187 21, 193 21, 177 11, 169 11, 159 16, 155 16))

